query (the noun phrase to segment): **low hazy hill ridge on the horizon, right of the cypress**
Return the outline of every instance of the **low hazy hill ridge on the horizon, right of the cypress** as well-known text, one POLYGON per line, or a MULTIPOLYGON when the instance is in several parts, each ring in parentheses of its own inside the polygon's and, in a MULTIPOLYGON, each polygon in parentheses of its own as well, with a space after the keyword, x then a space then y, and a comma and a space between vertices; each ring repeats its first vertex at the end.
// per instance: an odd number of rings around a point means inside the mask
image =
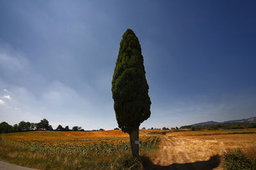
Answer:
POLYGON ((182 126, 180 127, 180 129, 183 129, 183 128, 187 128, 187 127, 205 127, 205 126, 210 126, 210 125, 218 125, 218 124, 222 124, 222 125, 225 125, 225 124, 256 124, 256 117, 251 117, 251 118, 243 118, 241 120, 228 120, 228 121, 225 121, 225 122, 214 122, 214 121, 209 121, 209 122, 201 122, 201 123, 198 123, 198 124, 192 124, 192 125, 185 125, 185 126, 182 126))

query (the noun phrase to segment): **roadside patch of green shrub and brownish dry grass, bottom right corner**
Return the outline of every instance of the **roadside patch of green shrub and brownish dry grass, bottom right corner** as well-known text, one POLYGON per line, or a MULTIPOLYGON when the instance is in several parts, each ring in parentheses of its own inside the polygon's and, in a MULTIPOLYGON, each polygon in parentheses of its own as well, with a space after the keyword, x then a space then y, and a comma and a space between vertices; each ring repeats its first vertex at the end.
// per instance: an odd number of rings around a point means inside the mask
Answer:
POLYGON ((223 167, 233 169, 256 169, 256 150, 229 150, 223 154, 223 167))

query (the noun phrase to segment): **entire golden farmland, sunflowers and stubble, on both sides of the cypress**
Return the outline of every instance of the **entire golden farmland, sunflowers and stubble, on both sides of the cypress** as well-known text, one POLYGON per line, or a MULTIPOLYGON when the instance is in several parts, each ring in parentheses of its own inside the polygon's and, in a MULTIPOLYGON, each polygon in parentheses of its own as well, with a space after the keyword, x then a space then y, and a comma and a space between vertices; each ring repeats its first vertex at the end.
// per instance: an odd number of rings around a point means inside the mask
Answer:
POLYGON ((256 129, 140 130, 144 167, 120 130, 15 132, 1 134, 0 159, 36 169, 223 169, 221 156, 236 148, 255 153, 256 129))

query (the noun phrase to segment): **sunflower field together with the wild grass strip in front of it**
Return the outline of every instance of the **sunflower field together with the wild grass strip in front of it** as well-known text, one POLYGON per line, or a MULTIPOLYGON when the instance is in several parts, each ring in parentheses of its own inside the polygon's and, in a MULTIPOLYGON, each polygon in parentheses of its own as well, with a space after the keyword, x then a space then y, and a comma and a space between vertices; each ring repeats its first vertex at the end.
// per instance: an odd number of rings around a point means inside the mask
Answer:
MULTIPOLYGON (((154 153, 160 141, 160 136, 141 133, 140 153, 154 153)), ((131 156, 129 136, 120 130, 1 134, 0 159, 36 169, 141 168, 131 156)))

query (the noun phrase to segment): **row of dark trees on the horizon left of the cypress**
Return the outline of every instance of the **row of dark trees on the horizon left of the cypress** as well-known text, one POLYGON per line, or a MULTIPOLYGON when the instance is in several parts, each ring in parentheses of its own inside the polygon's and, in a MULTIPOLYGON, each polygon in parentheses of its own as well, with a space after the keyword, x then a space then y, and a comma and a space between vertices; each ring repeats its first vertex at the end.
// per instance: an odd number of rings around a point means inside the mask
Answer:
POLYGON ((74 126, 69 129, 68 125, 64 128, 58 125, 56 129, 52 129, 52 125, 49 125, 49 121, 45 118, 38 123, 21 121, 19 124, 9 125, 6 122, 0 124, 0 133, 8 132, 24 132, 24 131, 84 131, 82 127, 74 126))

